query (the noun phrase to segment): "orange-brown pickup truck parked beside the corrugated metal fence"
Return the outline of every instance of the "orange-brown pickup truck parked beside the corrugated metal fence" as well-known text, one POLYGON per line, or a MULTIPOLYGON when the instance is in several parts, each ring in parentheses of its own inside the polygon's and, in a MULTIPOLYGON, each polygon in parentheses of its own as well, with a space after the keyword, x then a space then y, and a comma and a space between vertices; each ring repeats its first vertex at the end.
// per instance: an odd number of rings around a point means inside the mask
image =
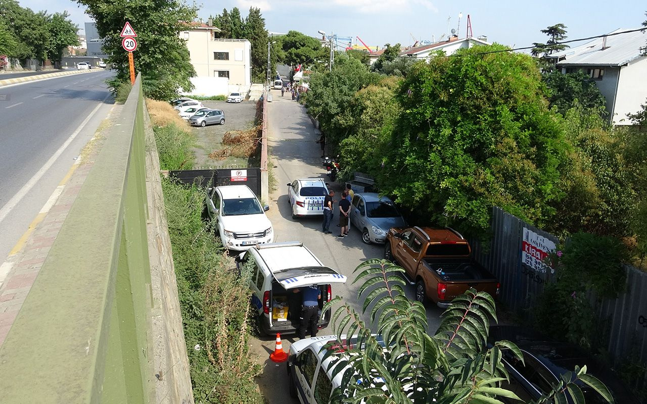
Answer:
POLYGON ((391 228, 384 258, 398 264, 415 284, 415 299, 430 299, 441 308, 469 288, 496 299, 501 284, 474 260, 470 244, 450 228, 391 228))

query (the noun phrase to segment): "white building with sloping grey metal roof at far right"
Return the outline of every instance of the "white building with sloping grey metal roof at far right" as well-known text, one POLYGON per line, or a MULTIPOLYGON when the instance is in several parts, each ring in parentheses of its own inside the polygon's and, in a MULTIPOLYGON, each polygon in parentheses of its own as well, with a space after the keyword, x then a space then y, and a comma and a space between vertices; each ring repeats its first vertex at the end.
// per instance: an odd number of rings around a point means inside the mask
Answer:
MULTIPOLYGON (((640 28, 619 29, 617 32, 640 28)), ((606 99, 609 120, 630 125, 627 114, 638 112, 647 98, 647 56, 641 54, 647 35, 641 31, 595 38, 584 45, 551 54, 562 73, 582 70, 606 99)))

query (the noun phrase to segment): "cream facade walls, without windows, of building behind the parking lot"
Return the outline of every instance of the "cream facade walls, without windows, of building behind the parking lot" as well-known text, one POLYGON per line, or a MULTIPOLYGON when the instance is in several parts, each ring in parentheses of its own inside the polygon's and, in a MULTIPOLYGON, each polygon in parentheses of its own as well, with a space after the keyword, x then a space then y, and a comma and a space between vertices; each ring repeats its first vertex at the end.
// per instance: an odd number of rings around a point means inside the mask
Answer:
POLYGON ((230 84, 251 85, 251 44, 247 39, 214 39, 208 28, 183 31, 180 37, 186 41, 198 77, 218 77, 218 72, 228 72, 230 84), (228 60, 215 59, 214 52, 225 52, 228 60))

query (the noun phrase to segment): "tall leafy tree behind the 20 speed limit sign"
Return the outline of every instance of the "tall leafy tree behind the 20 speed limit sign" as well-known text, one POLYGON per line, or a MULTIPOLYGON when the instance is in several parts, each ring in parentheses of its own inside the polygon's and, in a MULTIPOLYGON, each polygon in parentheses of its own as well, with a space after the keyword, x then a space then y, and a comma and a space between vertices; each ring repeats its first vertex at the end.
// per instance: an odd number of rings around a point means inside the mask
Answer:
POLYGON ((148 5, 120 0, 78 0, 87 6, 87 14, 96 21, 96 28, 104 38, 104 51, 109 54, 108 63, 116 70, 109 83, 118 88, 129 81, 127 52, 121 46, 119 34, 124 23, 129 21, 135 32, 139 47, 135 52, 135 70, 141 72, 146 96, 168 100, 179 88, 193 89, 189 80, 195 76, 189 52, 180 32, 186 28, 185 21, 193 21, 196 9, 180 0, 151 0, 148 5))

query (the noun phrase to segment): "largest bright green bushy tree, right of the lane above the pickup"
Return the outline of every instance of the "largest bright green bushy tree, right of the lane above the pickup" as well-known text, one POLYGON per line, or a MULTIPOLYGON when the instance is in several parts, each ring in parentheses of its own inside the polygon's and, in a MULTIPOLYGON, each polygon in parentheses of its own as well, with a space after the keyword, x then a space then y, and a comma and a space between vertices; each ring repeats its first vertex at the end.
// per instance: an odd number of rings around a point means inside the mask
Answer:
POLYGON ((378 179, 419 217, 483 234, 492 206, 538 226, 554 215, 569 147, 532 58, 481 53, 504 49, 439 55, 402 81, 378 179))

